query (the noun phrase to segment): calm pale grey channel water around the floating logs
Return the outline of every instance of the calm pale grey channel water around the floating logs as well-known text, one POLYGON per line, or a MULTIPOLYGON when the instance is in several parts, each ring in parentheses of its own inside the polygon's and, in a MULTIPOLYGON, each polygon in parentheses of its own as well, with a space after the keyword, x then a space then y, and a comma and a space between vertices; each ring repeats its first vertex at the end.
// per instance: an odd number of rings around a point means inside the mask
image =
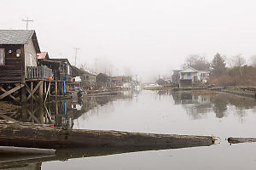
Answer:
MULTIPOLYGON (((73 150, 73 153, 64 150, 61 155, 63 157, 57 159, 61 161, 37 161, 29 164, 30 168, 148 170, 256 167, 256 143, 230 145, 225 140, 230 136, 256 138, 254 99, 208 92, 168 94, 141 91, 88 98, 79 103, 66 101, 65 105, 63 102, 48 105, 51 122, 44 116, 38 118, 38 121, 77 129, 214 135, 221 140, 212 146, 177 150, 130 152, 91 149, 73 150)), ((31 118, 29 121, 34 120, 31 118)), ((24 165, 28 166, 26 162, 23 162, 24 165)))

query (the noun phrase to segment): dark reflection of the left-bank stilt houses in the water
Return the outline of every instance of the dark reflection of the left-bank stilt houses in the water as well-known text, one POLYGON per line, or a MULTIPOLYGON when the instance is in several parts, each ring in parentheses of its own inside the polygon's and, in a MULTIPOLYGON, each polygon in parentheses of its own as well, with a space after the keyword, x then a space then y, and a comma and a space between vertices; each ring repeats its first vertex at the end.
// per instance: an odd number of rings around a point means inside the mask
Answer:
POLYGON ((134 94, 138 92, 124 91, 117 95, 57 100, 46 104, 32 103, 20 108, 20 111, 15 114, 7 114, 6 117, 19 122, 50 124, 70 129, 80 116, 88 116, 87 112, 93 111, 98 106, 111 105, 115 100, 132 99, 134 94))

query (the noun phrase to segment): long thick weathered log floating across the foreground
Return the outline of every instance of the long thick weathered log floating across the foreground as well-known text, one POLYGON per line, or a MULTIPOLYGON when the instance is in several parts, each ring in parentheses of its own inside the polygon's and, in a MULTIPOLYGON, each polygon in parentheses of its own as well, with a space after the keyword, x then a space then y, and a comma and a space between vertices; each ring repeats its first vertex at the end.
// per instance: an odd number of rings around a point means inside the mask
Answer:
POLYGON ((36 148, 157 147, 175 149, 209 146, 211 136, 127 133, 104 130, 61 129, 32 123, 0 121, 0 145, 36 148))

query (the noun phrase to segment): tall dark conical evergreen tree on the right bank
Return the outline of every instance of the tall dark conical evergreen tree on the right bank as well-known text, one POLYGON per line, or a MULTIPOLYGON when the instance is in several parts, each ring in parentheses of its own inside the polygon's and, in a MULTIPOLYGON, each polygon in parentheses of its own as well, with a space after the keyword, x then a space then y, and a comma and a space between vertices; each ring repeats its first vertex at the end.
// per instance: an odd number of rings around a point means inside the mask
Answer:
POLYGON ((223 57, 220 56, 220 54, 216 54, 212 59, 211 68, 213 74, 220 74, 225 71, 226 63, 223 57))

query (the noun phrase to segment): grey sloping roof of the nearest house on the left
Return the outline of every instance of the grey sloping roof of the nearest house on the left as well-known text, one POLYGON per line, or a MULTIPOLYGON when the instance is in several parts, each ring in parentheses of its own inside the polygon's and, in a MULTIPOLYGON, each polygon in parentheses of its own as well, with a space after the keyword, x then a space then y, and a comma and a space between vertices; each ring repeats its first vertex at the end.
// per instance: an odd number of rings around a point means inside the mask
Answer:
POLYGON ((0 30, 0 44, 27 44, 34 30, 0 30))

